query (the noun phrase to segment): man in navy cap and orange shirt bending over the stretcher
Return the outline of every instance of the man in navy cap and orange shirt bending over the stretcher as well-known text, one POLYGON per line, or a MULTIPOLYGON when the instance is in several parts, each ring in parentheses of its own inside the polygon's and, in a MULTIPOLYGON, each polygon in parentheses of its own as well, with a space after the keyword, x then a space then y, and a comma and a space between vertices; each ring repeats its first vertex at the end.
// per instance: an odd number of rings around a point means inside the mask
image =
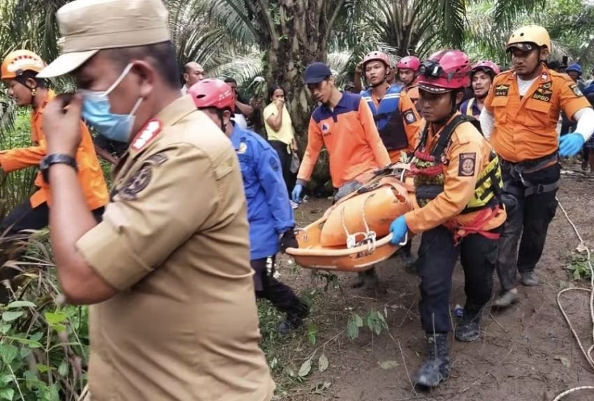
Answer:
MULTIPOLYGON (((307 148, 291 197, 294 202, 301 202, 303 187, 310 180, 322 146, 326 146, 332 185, 337 189, 334 201, 338 201, 361 187, 375 170, 389 165, 390 156, 365 99, 357 94, 340 92, 334 85, 330 68, 324 63, 310 64, 303 75, 305 84, 321 105, 310 119, 307 148)), ((358 278, 354 288, 377 284, 371 269, 358 278)))

